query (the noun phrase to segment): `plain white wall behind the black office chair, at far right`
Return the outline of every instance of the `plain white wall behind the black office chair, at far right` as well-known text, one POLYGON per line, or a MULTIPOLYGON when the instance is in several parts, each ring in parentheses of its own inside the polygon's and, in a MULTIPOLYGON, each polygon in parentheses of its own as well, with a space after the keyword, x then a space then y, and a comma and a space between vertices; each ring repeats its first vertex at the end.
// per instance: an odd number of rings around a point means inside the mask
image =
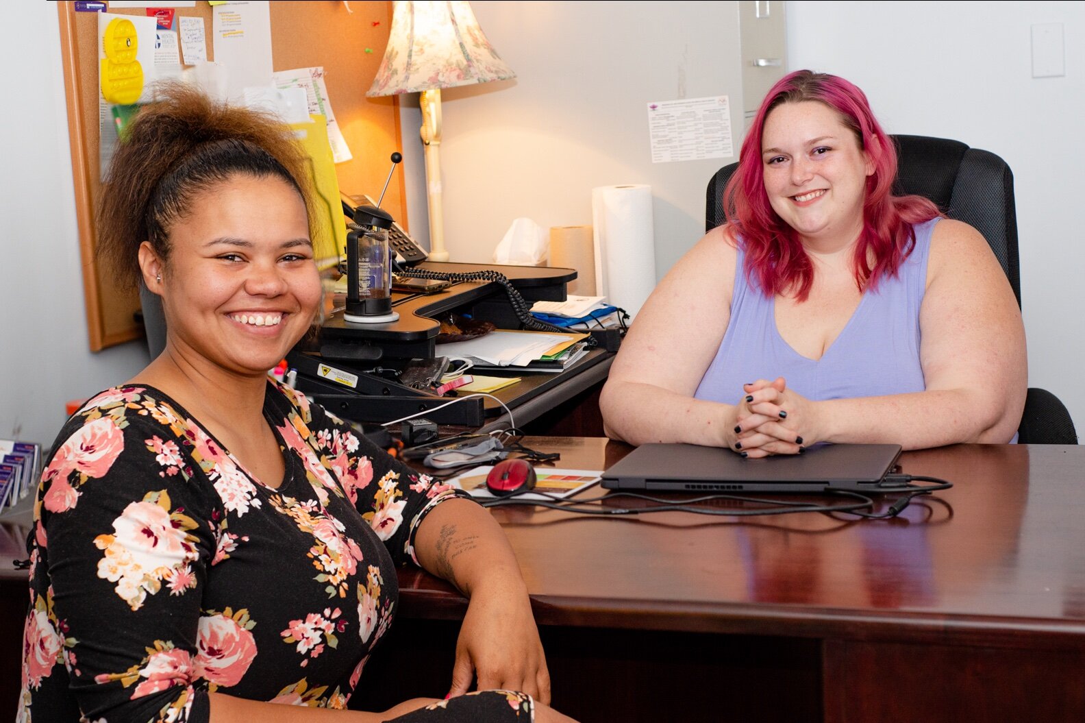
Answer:
POLYGON ((997 153, 1013 169, 1029 384, 1085 437, 1085 3, 788 3, 791 68, 848 78, 889 132, 997 153), (1033 23, 1065 26, 1067 75, 1033 78, 1033 23))

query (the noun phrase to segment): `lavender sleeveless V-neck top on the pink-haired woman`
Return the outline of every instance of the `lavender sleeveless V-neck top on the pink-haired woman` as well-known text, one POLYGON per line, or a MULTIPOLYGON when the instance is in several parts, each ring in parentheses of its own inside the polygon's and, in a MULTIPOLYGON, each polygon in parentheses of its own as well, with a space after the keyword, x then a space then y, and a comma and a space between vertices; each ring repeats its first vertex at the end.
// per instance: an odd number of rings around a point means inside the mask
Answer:
POLYGON ((843 331, 816 362, 780 337, 776 301, 748 282, 739 243, 731 319, 693 396, 735 404, 743 383, 777 377, 815 402, 922 392, 927 385, 919 364, 919 306, 937 220, 916 225, 916 245, 897 275, 882 278, 877 290, 863 294, 843 331))

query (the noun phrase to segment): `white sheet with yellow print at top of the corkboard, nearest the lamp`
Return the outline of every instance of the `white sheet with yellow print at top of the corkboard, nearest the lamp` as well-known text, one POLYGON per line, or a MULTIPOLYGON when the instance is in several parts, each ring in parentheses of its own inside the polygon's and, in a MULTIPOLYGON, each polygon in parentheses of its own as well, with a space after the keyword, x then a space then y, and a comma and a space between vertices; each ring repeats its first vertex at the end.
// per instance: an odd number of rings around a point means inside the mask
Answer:
POLYGON ((235 103, 245 88, 271 85, 271 11, 268 0, 212 8, 215 62, 226 66, 227 96, 235 103))

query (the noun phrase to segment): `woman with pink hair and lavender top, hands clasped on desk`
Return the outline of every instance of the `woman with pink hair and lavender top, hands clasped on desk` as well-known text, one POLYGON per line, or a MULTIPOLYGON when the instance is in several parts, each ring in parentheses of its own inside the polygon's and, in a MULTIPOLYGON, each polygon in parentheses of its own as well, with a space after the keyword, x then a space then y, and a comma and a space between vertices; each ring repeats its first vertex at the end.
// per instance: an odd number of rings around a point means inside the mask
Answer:
POLYGON ((1027 372, 1006 275, 975 229, 893 195, 895 176, 856 86, 777 83, 725 189, 728 223, 660 282, 614 362, 608 434, 749 457, 1014 441, 1027 372))

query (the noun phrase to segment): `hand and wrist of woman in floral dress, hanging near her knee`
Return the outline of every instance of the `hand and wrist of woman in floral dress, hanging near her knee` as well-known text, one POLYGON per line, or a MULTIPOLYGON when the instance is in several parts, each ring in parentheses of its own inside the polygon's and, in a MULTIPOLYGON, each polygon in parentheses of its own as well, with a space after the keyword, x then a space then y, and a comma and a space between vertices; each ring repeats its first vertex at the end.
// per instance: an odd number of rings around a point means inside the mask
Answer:
POLYGON ((550 702, 550 673, 531 600, 519 576, 487 579, 472 591, 456 643, 448 697, 467 693, 474 676, 480 690, 520 690, 539 702, 550 702))

